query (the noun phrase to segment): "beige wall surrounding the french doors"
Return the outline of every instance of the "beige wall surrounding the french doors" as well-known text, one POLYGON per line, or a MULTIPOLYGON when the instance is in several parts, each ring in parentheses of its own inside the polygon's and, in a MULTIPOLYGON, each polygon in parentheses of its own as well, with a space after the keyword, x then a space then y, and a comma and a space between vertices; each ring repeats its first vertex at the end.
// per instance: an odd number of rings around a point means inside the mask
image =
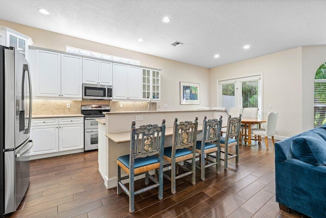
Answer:
POLYGON ((278 111, 279 136, 302 132, 302 49, 286 50, 210 69, 210 106, 218 105, 217 81, 263 74, 263 117, 278 111), (268 108, 268 105, 272 108, 268 108))

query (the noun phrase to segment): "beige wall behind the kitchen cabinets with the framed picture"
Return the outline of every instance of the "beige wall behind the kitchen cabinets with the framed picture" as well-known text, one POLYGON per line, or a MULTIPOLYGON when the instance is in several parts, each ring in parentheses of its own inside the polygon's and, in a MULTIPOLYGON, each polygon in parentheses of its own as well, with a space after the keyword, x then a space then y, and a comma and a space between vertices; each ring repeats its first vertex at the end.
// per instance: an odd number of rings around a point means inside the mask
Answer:
POLYGON ((108 55, 140 60, 142 66, 162 69, 161 101, 159 104, 157 104, 157 110, 194 110, 198 107, 208 107, 209 105, 209 69, 207 68, 159 58, 152 55, 146 55, 143 53, 125 50, 119 47, 104 45, 101 43, 59 33, 19 25, 17 23, 5 20, 0 20, 0 26, 8 27, 31 37, 35 46, 59 51, 66 51, 66 46, 68 45, 108 55), (179 82, 191 82, 200 84, 200 105, 180 105, 179 82), (164 105, 168 105, 168 108, 164 108, 164 105))

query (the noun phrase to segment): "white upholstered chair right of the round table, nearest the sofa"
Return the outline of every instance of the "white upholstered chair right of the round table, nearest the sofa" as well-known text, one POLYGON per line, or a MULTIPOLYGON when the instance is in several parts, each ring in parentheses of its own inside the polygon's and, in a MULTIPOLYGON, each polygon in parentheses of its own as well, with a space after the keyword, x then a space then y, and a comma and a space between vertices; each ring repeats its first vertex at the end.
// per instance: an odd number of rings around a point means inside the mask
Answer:
POLYGON ((278 112, 269 112, 266 118, 266 129, 251 130, 251 133, 253 135, 259 135, 258 143, 260 143, 260 136, 265 137, 266 149, 268 149, 267 137, 271 137, 271 140, 273 141, 273 146, 275 146, 274 135, 275 135, 278 115, 279 115, 278 112))

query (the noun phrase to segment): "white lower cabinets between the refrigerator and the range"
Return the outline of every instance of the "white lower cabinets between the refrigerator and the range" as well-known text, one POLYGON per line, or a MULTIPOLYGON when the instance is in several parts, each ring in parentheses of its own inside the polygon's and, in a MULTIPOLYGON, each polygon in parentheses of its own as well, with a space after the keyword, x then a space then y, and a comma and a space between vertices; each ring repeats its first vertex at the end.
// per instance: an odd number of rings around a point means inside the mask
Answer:
POLYGON ((31 156, 84 149, 84 118, 32 119, 31 138, 31 156))

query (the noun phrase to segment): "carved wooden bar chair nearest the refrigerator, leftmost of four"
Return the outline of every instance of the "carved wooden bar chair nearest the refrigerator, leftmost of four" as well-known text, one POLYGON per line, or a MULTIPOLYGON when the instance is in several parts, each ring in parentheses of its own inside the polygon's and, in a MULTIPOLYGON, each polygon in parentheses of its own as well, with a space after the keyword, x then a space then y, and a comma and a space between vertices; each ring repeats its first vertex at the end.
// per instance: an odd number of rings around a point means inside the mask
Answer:
POLYGON ((121 194, 121 188, 129 196, 129 212, 134 212, 134 196, 150 189, 158 187, 158 199, 163 199, 163 151, 165 142, 165 119, 161 126, 156 124, 143 125, 135 128, 135 122, 131 122, 130 154, 118 157, 117 194, 121 194), (121 177, 121 168, 128 174, 121 177), (158 169, 158 181, 149 174, 152 169, 158 169), (145 173, 145 184, 148 178, 155 184, 134 190, 134 177, 145 173), (122 180, 129 179, 129 189, 122 180))

